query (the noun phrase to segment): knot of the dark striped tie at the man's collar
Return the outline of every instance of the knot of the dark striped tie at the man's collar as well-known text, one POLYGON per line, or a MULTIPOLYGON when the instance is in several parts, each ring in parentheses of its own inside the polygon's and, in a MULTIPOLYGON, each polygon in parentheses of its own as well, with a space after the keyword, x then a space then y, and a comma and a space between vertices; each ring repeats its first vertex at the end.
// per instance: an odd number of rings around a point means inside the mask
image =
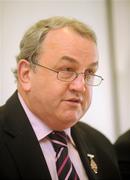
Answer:
POLYGON ((64 131, 53 131, 49 134, 49 138, 56 152, 58 152, 61 147, 67 147, 67 135, 64 131))

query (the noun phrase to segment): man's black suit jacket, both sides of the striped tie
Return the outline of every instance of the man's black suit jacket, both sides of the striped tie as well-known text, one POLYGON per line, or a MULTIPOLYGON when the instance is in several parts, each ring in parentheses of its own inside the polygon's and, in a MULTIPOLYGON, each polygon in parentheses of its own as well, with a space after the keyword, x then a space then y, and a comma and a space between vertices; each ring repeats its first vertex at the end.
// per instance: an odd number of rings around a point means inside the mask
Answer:
MULTIPOLYGON (((72 128, 81 161, 90 180, 118 180, 119 172, 110 142, 84 123, 72 128), (87 154, 94 154, 95 174, 87 154)), ((50 180, 39 142, 18 100, 17 93, 0 108, 0 179, 50 180)))

